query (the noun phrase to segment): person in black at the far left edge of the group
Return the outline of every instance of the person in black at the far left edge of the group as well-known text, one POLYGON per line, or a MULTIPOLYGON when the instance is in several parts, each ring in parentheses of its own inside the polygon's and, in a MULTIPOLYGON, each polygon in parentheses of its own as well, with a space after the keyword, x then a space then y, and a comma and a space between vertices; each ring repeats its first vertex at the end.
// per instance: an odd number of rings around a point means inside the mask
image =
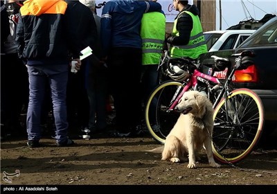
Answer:
POLYGON ((15 32, 19 19, 19 9, 23 4, 20 1, 9 0, 5 4, 10 21, 10 35, 4 42, 6 62, 1 66, 1 79, 3 80, 3 101, 7 134, 23 134, 19 117, 23 107, 28 105, 28 72, 17 55, 15 32), (20 94, 20 96, 18 95, 20 94))

